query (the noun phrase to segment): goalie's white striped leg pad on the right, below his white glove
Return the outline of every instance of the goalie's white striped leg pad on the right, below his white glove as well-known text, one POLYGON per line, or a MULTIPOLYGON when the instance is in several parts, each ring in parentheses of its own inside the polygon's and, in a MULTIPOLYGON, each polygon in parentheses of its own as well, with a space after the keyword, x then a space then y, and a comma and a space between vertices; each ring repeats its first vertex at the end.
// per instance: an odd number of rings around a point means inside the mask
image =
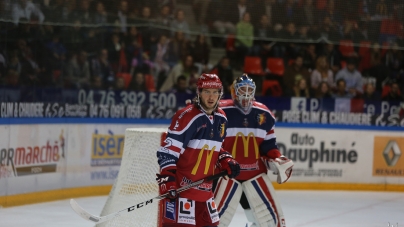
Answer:
POLYGON ((262 173, 243 182, 258 227, 285 227, 285 218, 269 177, 262 173))

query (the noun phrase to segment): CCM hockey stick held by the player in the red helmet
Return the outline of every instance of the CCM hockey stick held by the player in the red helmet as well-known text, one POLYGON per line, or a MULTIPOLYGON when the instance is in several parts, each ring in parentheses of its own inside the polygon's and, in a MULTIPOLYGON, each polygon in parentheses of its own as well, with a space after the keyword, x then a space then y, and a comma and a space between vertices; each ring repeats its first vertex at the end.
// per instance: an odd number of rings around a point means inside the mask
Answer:
MULTIPOLYGON (((195 181, 195 182, 193 182, 193 183, 191 183, 191 184, 185 185, 184 187, 181 187, 181 188, 177 189, 177 193, 183 192, 183 191, 185 191, 185 190, 188 190, 188 189, 190 189, 190 188, 193 188, 193 187, 195 187, 195 186, 198 186, 198 185, 200 185, 200 184, 202 184, 202 183, 215 180, 215 179, 217 179, 217 178, 219 178, 219 177, 222 177, 222 176, 225 176, 225 175, 227 175, 227 172, 226 172, 226 171, 223 171, 223 172, 220 172, 220 173, 218 173, 218 174, 205 177, 205 178, 203 178, 203 179, 200 179, 200 180, 198 180, 198 181, 195 181)), ((128 207, 128 208, 125 208, 125 209, 123 209, 123 210, 117 211, 117 212, 115 212, 115 213, 111 213, 111 214, 108 214, 108 215, 105 215, 105 216, 100 216, 100 217, 88 213, 88 212, 87 212, 86 210, 84 210, 74 199, 70 199, 70 206, 73 208, 73 210, 74 210, 80 217, 82 217, 82 218, 84 218, 84 219, 86 219, 86 220, 90 220, 90 221, 95 222, 95 223, 101 223, 101 222, 105 222, 105 221, 111 220, 111 219, 113 219, 113 218, 119 217, 119 216, 121 216, 122 214, 127 214, 127 213, 129 213, 129 212, 131 212, 131 211, 134 211, 135 209, 139 209, 139 208, 142 208, 142 207, 144 207, 144 206, 147 206, 147 205, 153 203, 153 200, 164 199, 167 195, 168 195, 168 193, 165 193, 165 194, 163 194, 163 195, 159 195, 159 196, 154 197, 154 198, 152 198, 152 199, 150 199, 150 200, 147 200, 147 201, 138 203, 138 204, 136 204, 136 205, 130 206, 130 207, 128 207)))

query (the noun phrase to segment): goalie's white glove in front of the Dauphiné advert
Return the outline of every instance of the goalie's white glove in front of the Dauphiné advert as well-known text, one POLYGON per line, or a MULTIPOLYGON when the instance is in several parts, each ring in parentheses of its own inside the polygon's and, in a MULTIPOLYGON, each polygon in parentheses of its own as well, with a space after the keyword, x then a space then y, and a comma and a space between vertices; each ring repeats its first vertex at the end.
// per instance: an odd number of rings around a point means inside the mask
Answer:
POLYGON ((285 183, 292 176, 293 171, 293 161, 286 158, 285 156, 280 156, 279 158, 269 158, 267 156, 262 156, 262 161, 264 161, 267 168, 275 175, 278 175, 276 181, 278 184, 285 183))

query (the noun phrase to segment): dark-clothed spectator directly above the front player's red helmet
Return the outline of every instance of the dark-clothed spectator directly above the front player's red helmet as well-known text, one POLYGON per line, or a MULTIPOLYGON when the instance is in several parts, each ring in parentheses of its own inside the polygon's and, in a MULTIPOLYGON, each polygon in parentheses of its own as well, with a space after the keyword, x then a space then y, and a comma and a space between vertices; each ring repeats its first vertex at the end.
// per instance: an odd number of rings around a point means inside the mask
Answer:
POLYGON ((194 64, 198 67, 198 74, 201 74, 204 67, 208 67, 210 46, 206 42, 203 34, 197 35, 192 43, 191 55, 194 58, 194 64))

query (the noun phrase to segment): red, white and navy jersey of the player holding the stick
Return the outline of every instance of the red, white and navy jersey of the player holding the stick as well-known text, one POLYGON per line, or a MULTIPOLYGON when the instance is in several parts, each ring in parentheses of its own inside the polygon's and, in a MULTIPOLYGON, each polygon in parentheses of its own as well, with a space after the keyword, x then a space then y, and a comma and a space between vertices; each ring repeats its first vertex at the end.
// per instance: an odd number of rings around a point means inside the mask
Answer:
MULTIPOLYGON (((177 111, 167 137, 157 151, 160 170, 176 170, 177 186, 182 187, 215 173, 222 143, 226 137, 227 118, 223 110, 207 115, 195 105, 177 111)), ((181 197, 206 201, 213 197, 212 182, 184 192, 181 197)))

